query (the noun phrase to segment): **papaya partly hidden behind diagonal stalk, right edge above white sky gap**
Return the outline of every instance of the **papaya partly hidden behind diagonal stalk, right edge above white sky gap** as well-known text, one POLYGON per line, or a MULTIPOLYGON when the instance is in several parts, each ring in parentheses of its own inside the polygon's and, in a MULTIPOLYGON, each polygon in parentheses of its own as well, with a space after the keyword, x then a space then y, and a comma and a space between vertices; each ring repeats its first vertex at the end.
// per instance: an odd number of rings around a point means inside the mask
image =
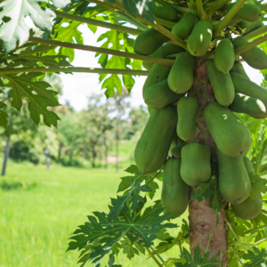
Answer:
MULTIPOLYGON (((235 48, 239 48, 240 46, 249 44, 249 42, 245 37, 239 36, 234 39, 233 44, 235 48)), ((254 69, 267 69, 267 54, 257 46, 241 53, 240 56, 254 69)))

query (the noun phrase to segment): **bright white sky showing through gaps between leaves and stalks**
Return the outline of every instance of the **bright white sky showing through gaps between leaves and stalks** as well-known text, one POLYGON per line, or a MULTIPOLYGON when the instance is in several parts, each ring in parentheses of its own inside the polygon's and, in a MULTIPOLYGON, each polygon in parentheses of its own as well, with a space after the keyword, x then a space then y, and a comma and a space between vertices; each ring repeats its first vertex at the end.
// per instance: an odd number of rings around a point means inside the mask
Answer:
MULTIPOLYGON (((99 27, 97 32, 93 34, 87 25, 81 25, 78 29, 83 33, 84 44, 93 46, 101 46, 101 43, 96 42, 97 38, 107 30, 106 28, 99 27)), ((94 58, 93 52, 76 50, 75 60, 72 61, 71 64, 75 67, 101 68, 97 61, 98 59, 94 58)), ((248 77, 250 77, 253 82, 258 85, 262 83, 263 76, 259 70, 252 69, 247 63, 244 63, 244 68, 248 77)), ((70 105, 77 111, 85 109, 90 95, 93 93, 102 93, 104 95, 104 90, 101 90, 98 77, 98 74, 93 73, 74 73, 73 75, 62 73, 63 94, 60 96, 61 104, 65 104, 66 101, 69 101, 70 105)), ((132 106, 139 107, 140 105, 145 105, 142 99, 142 85, 146 77, 135 77, 134 79, 135 85, 132 89, 129 101, 132 106)))

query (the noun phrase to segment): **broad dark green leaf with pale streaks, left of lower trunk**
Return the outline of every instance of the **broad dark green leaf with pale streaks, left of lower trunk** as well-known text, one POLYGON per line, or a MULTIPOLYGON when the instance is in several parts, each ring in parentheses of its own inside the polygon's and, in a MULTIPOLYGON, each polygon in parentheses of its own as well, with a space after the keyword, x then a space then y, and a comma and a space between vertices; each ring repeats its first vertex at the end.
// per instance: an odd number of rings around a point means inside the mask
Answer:
POLYGON ((79 260, 84 266, 86 262, 99 263, 124 237, 132 244, 136 242, 143 247, 151 247, 161 229, 177 226, 174 223, 164 223, 172 215, 162 214, 163 210, 164 207, 155 204, 147 207, 142 214, 134 214, 124 206, 122 216, 112 221, 109 221, 108 214, 94 212, 88 216, 89 222, 80 225, 73 233, 68 250, 85 249, 79 260))

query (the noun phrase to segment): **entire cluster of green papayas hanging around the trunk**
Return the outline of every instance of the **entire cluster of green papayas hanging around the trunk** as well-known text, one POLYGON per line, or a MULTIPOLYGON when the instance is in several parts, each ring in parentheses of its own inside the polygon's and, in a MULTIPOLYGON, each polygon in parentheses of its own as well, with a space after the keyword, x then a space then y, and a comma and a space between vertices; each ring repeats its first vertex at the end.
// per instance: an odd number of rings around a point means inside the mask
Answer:
MULTIPOLYGON (((230 11, 232 4, 227 10, 230 11)), ((171 7, 168 7, 171 9, 171 7)), ((164 20, 177 20, 161 15, 164 20)), ((261 10, 244 4, 236 13, 236 29, 245 34, 262 27, 261 10)), ((263 199, 254 195, 249 173, 253 167, 245 157, 251 136, 246 125, 233 112, 250 117, 267 117, 267 90, 249 80, 235 49, 248 43, 244 36, 213 36, 212 21, 199 20, 190 13, 174 24, 172 32, 186 42, 181 46, 168 44, 169 39, 154 28, 137 36, 134 52, 157 58, 175 55, 173 66, 143 61, 150 74, 142 95, 150 111, 150 119, 137 142, 134 158, 143 174, 163 169, 162 203, 166 212, 181 215, 189 203, 189 187, 198 187, 212 176, 212 157, 208 146, 199 142, 199 117, 203 117, 206 133, 212 136, 218 161, 218 181, 222 198, 231 203, 234 214, 253 219, 260 213, 263 199), (196 80, 196 69, 206 57, 206 74, 214 92, 214 100, 202 107, 198 93, 190 88, 196 80), (179 142, 177 142, 179 140, 179 142)), ((255 69, 267 69, 267 55, 258 47, 240 56, 255 69)), ((198 91, 198 90, 197 90, 198 91)), ((206 134, 207 136, 207 134, 206 134)), ((208 136, 206 137, 208 138, 208 136)), ((205 137, 204 137, 205 139, 205 137)))

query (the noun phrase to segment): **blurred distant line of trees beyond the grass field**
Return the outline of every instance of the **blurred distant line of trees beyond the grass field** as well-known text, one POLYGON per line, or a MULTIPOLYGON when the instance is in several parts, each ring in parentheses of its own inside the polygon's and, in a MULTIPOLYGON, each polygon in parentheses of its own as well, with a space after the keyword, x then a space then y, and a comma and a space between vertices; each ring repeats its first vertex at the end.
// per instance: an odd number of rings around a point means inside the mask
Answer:
POLYGON ((63 166, 83 166, 90 162, 92 167, 108 168, 110 151, 118 170, 119 142, 131 140, 136 132, 142 131, 149 117, 145 107, 131 107, 126 91, 108 101, 101 94, 93 94, 86 109, 79 112, 69 104, 52 108, 61 117, 58 128, 36 127, 29 117, 27 104, 25 101, 20 114, 7 103, 5 112, 10 120, 7 129, 0 132, 5 162, 2 174, 7 158, 47 167, 52 161, 63 166))

